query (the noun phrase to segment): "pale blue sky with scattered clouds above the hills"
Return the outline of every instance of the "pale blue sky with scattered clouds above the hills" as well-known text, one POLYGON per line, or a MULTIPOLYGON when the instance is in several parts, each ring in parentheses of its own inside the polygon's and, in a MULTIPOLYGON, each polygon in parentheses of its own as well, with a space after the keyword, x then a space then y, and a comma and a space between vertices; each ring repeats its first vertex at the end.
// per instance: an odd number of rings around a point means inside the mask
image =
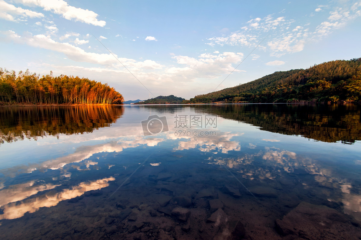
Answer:
POLYGON ((3 69, 89 78, 125 100, 361 57, 361 0, 0 0, 0 23, 3 69))

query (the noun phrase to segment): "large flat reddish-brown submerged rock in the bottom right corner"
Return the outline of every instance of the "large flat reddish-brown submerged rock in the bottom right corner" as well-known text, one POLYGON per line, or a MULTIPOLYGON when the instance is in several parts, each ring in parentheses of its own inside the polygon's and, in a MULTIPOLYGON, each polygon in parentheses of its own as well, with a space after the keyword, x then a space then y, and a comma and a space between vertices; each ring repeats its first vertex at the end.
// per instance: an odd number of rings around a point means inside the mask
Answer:
POLYGON ((305 239, 360 239, 360 228, 353 219, 327 206, 301 202, 282 220, 276 219, 275 228, 282 235, 300 236, 305 239))

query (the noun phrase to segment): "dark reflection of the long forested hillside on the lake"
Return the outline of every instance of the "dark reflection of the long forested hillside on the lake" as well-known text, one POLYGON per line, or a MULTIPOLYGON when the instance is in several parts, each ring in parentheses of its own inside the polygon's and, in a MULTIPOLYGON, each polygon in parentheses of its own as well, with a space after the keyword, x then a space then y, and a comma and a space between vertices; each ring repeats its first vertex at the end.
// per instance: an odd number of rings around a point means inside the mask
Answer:
POLYGON ((195 109, 280 134, 349 144, 361 140, 361 106, 356 104, 211 105, 195 109))

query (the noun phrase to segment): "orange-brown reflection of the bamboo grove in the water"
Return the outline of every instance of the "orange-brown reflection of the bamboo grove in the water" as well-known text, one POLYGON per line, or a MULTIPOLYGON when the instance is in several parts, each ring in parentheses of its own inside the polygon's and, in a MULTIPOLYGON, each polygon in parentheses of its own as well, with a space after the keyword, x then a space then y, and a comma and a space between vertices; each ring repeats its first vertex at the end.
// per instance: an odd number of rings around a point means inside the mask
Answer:
POLYGON ((0 107, 0 143, 92 132, 122 115, 121 106, 0 107))

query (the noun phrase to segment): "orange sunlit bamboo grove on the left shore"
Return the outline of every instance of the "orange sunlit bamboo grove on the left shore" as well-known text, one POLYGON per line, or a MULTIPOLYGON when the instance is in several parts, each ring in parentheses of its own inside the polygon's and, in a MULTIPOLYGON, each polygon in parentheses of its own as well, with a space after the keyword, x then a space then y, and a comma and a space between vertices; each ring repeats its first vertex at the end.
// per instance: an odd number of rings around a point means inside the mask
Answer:
POLYGON ((0 68, 0 101, 24 104, 122 104, 123 96, 107 83, 88 78, 8 71, 0 68))

